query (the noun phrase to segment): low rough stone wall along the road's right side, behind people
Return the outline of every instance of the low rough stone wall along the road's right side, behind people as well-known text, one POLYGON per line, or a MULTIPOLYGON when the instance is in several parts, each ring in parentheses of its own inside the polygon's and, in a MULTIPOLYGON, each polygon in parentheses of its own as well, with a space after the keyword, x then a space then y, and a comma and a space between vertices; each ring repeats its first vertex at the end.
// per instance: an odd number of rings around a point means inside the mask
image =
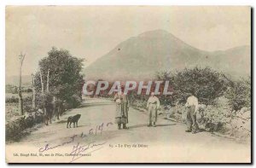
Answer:
MULTIPOLYGON (((132 106, 143 112, 146 103, 134 101, 132 106)), ((181 104, 174 107, 161 106, 158 114, 172 121, 181 123, 186 121, 186 107, 181 104)), ((214 106, 200 104, 196 119, 201 130, 232 137, 237 141, 250 141, 251 139, 251 110, 242 107, 239 111, 231 111, 224 98, 219 98, 214 106)))

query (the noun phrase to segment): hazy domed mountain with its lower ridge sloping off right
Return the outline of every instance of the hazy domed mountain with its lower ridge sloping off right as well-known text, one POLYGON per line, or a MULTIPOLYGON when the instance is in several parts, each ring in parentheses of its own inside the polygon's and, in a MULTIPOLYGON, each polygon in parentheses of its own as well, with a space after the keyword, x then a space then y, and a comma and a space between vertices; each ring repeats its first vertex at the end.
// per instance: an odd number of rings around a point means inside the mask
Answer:
POLYGON ((251 48, 208 52, 184 43, 172 33, 155 30, 119 43, 85 68, 84 73, 89 79, 147 79, 157 71, 195 66, 212 67, 234 77, 250 75, 251 48))

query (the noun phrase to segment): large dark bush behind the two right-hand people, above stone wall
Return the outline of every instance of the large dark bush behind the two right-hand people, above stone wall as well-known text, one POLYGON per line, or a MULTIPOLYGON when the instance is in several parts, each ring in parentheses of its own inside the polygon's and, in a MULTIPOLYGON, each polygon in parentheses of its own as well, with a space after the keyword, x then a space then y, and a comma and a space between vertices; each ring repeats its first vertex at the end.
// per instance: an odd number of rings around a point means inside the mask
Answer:
POLYGON ((164 104, 184 103, 189 94, 193 93, 201 103, 209 105, 223 96, 230 83, 223 73, 215 72, 209 67, 185 68, 175 73, 159 72, 156 78, 169 80, 172 85, 172 96, 160 96, 164 104))

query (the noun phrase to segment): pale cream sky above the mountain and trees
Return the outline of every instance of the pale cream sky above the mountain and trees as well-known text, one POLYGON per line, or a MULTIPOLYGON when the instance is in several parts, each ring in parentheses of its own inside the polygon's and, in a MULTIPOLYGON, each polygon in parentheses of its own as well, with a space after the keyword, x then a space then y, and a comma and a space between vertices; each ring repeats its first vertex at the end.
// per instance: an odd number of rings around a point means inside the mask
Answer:
POLYGON ((84 58, 84 67, 127 38, 156 29, 207 51, 251 43, 249 7, 9 6, 6 8, 6 76, 38 70, 55 46, 84 58))

